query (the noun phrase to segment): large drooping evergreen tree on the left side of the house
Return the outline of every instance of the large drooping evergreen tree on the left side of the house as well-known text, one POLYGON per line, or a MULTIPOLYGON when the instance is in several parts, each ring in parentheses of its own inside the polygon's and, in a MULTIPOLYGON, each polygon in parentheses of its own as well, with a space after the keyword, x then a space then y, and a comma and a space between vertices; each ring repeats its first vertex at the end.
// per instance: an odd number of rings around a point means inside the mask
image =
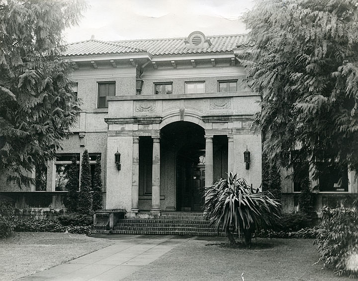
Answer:
POLYGON ((0 175, 29 185, 34 166, 55 157, 76 121, 73 66, 62 32, 76 24, 77 1, 0 1, 0 175))

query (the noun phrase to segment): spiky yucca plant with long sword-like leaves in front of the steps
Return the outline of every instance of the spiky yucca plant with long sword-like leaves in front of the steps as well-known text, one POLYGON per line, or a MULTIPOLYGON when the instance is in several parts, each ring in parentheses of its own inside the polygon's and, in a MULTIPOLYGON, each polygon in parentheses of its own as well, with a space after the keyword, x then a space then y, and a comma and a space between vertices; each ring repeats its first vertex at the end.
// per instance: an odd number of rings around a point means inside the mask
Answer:
POLYGON ((204 210, 210 224, 226 231, 230 244, 236 244, 233 233, 244 234, 245 243, 251 243, 255 230, 273 225, 280 217, 280 204, 268 191, 261 192, 249 186, 245 179, 229 174, 228 179, 217 180, 204 188, 204 210))

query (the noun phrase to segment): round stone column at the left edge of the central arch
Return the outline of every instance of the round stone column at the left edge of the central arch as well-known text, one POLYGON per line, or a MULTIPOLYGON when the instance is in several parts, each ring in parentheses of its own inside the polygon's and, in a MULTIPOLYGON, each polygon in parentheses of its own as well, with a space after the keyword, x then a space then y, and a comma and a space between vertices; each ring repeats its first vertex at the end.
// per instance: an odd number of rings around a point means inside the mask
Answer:
POLYGON ((154 215, 160 214, 160 138, 153 138, 151 213, 154 215))

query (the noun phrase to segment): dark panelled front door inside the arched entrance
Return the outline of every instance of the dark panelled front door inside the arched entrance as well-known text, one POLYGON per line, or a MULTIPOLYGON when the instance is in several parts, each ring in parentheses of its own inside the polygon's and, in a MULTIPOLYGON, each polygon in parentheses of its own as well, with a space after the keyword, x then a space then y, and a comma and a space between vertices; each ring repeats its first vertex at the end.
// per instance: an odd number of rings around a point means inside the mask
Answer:
POLYGON ((191 211, 202 211, 203 188, 205 186, 205 166, 197 165, 192 167, 192 200, 191 211))

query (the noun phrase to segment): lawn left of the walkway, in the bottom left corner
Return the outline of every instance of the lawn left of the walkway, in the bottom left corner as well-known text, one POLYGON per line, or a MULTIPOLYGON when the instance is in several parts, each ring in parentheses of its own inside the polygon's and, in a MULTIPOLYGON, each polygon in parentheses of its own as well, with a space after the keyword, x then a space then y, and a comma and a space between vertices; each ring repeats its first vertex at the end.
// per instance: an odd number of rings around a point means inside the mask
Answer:
POLYGON ((15 232, 0 239, 0 281, 43 271, 111 244, 83 234, 15 232))

